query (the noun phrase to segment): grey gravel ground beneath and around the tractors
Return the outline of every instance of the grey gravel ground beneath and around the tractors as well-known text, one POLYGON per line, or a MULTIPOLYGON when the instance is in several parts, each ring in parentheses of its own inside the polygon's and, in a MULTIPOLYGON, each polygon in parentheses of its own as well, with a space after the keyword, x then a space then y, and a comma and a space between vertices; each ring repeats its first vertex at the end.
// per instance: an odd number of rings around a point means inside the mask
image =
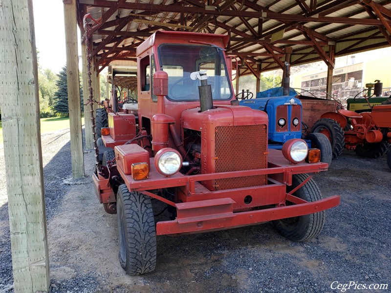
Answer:
MULTIPOLYGON (((69 132, 44 135, 42 142, 52 293, 340 292, 330 288, 334 281, 388 284, 388 290, 359 292, 391 292, 391 172, 385 156, 370 160, 345 151, 328 172, 315 176, 324 197, 341 195, 316 239, 291 242, 269 223, 158 236, 156 271, 128 276, 118 263, 116 215, 98 203, 89 176, 81 184, 64 183, 71 175, 69 132)), ((86 153, 85 166, 89 175, 92 153, 86 153)), ((5 293, 13 292, 13 278, 1 179, 0 293, 5 293)))

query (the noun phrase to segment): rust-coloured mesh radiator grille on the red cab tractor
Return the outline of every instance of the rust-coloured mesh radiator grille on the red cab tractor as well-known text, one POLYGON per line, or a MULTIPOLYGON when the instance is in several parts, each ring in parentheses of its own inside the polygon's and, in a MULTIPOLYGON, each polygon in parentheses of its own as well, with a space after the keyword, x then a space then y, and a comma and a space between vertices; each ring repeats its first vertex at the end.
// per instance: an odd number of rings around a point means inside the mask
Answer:
MULTIPOLYGON (((217 126, 216 173, 267 167, 266 125, 217 126)), ((266 175, 216 179, 215 189, 224 190, 266 184, 266 175)))

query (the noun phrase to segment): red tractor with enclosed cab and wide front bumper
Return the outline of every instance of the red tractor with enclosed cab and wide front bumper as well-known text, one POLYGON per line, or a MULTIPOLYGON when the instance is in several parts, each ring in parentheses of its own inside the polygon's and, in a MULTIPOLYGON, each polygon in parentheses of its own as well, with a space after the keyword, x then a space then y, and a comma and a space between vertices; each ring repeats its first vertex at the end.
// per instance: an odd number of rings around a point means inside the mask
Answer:
POLYGON ((119 261, 131 275, 155 269, 157 235, 272 221, 283 236, 305 241, 339 205, 306 174, 327 170, 319 149, 301 139, 267 148, 267 114, 235 99, 227 42, 154 33, 137 48, 139 125, 126 109, 108 113, 93 181, 106 211, 117 213, 119 261), (171 216, 155 223, 151 199, 171 216))

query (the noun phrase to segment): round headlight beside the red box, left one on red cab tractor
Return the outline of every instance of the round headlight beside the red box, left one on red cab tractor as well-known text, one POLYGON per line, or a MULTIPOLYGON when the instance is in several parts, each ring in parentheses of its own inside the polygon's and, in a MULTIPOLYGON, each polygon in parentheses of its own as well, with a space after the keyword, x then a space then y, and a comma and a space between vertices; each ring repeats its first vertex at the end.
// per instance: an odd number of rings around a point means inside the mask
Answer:
POLYGON ((163 176, 174 175, 182 167, 182 157, 173 148, 163 148, 156 153, 155 167, 163 176))

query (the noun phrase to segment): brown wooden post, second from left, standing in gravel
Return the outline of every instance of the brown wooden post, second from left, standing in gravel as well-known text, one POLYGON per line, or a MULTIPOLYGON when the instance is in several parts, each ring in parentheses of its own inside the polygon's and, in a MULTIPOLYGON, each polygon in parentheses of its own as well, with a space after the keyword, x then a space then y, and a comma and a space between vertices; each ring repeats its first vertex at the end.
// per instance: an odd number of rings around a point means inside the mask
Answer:
POLYGON ((66 79, 70 126, 72 177, 84 177, 82 117, 80 113, 79 64, 77 55, 76 0, 64 1, 66 79))

